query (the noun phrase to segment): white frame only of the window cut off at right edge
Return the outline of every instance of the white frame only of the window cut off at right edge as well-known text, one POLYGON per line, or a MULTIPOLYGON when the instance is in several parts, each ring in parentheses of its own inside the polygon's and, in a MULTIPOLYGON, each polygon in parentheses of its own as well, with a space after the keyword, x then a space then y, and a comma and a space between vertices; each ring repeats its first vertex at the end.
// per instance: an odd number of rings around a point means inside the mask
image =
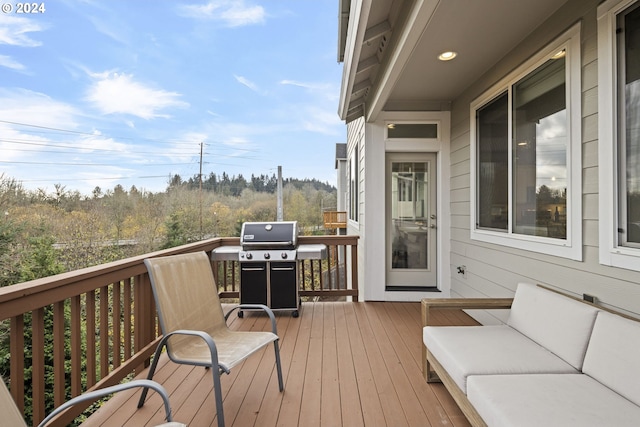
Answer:
POLYGON ((608 0, 598 6, 598 180, 600 264, 640 271, 640 249, 618 241, 618 15, 640 0, 608 0), (609 142, 609 143, 607 143, 609 142))

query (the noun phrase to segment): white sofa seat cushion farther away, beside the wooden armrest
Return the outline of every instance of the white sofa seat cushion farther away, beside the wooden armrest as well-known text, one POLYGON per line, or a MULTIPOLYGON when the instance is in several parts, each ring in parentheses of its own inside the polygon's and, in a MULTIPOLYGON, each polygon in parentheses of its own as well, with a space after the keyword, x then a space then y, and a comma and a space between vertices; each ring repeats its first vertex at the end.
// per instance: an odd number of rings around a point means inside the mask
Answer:
POLYGON ((507 325, 426 326, 423 341, 465 393, 469 375, 578 373, 507 325))

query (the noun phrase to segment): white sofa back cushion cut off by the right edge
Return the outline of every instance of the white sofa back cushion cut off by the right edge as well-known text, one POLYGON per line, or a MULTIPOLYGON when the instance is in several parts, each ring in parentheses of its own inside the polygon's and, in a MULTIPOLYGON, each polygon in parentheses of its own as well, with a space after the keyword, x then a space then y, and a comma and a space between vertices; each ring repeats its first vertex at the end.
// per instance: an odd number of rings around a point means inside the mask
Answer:
POLYGON ((583 372, 640 406, 640 322, 598 313, 583 372))

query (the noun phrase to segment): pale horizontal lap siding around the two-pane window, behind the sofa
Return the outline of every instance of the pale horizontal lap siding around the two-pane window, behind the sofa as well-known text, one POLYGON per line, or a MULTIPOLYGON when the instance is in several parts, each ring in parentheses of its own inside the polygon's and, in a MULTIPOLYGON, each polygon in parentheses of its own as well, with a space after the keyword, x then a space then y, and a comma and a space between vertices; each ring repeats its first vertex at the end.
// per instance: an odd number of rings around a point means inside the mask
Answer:
MULTIPOLYGON (((597 0, 575 0, 530 35, 505 59, 454 100, 451 117, 451 295, 508 297, 518 282, 546 284, 606 306, 640 315, 640 273, 603 266, 598 257, 597 0), (573 261, 470 239, 470 117, 473 99, 581 22, 583 259, 573 261), (466 266, 466 275, 456 267, 466 266)), ((606 143, 611 143, 607 141, 606 143)), ((489 315, 477 313, 485 323, 489 315)), ((502 317, 502 316, 499 316, 502 317)))

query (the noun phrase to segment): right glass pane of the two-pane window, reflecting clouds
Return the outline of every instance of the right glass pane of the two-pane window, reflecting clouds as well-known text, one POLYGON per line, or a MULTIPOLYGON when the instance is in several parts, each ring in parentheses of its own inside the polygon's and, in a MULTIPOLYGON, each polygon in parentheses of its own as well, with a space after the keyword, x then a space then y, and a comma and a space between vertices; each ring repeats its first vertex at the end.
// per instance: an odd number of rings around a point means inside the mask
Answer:
POLYGON ((514 233, 566 239, 565 58, 513 86, 514 233))

